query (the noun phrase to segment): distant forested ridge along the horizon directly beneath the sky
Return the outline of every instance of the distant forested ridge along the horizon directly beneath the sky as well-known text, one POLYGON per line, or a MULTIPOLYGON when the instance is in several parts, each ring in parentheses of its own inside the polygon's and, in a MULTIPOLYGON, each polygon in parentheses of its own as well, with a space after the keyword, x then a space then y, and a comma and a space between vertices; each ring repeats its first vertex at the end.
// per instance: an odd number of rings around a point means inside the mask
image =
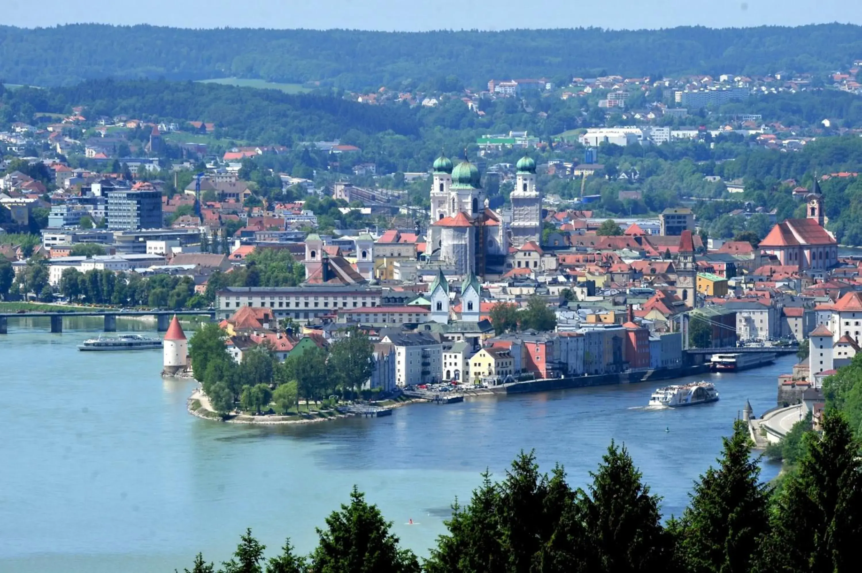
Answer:
POLYGON ((415 87, 456 76, 828 72, 862 54, 862 27, 600 28, 436 31, 193 30, 75 24, 0 27, 0 78, 65 85, 84 78, 264 78, 347 89, 415 87))

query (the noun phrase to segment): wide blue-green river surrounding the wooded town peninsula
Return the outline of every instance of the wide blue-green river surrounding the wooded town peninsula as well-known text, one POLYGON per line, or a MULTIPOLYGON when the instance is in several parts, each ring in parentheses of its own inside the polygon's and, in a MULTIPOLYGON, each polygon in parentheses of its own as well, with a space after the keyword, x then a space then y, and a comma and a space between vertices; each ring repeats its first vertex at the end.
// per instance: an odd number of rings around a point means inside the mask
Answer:
MULTIPOLYGON (((162 380, 161 352, 78 352, 99 327, 67 319, 51 334, 45 319, 10 320, 0 335, 0 571, 166 573, 197 551, 228 557, 246 527, 272 552, 285 536, 310 551, 353 484, 424 555, 485 468, 503 476, 535 449, 543 470, 559 461, 584 486, 611 439, 665 515, 679 514, 746 398, 756 414, 771 408, 794 362, 710 376, 721 401, 695 408, 644 409, 653 384, 634 384, 242 427, 187 414, 194 383, 162 380)), ((777 472, 765 464, 763 477, 777 472)))

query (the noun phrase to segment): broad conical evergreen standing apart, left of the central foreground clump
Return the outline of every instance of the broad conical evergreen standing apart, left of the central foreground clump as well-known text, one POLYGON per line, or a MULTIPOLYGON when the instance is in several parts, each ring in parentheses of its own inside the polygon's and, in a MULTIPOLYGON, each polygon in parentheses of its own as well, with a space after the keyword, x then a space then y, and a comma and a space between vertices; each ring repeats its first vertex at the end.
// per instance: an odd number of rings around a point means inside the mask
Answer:
POLYGON ((350 505, 341 504, 326 519, 327 528, 317 529, 319 545, 311 554, 311 569, 322 573, 419 573, 412 551, 398 548, 375 505, 368 505, 356 486, 350 505))

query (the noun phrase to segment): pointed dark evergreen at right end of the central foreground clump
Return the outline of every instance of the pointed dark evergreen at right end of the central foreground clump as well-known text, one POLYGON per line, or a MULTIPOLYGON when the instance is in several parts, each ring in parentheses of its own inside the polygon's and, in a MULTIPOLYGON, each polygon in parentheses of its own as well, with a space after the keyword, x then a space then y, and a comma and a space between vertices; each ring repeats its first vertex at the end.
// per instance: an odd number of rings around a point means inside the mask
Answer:
POLYGON ((590 495, 579 492, 591 571, 665 570, 670 558, 658 495, 640 482, 625 446, 611 441, 603 464, 590 472, 590 495))

